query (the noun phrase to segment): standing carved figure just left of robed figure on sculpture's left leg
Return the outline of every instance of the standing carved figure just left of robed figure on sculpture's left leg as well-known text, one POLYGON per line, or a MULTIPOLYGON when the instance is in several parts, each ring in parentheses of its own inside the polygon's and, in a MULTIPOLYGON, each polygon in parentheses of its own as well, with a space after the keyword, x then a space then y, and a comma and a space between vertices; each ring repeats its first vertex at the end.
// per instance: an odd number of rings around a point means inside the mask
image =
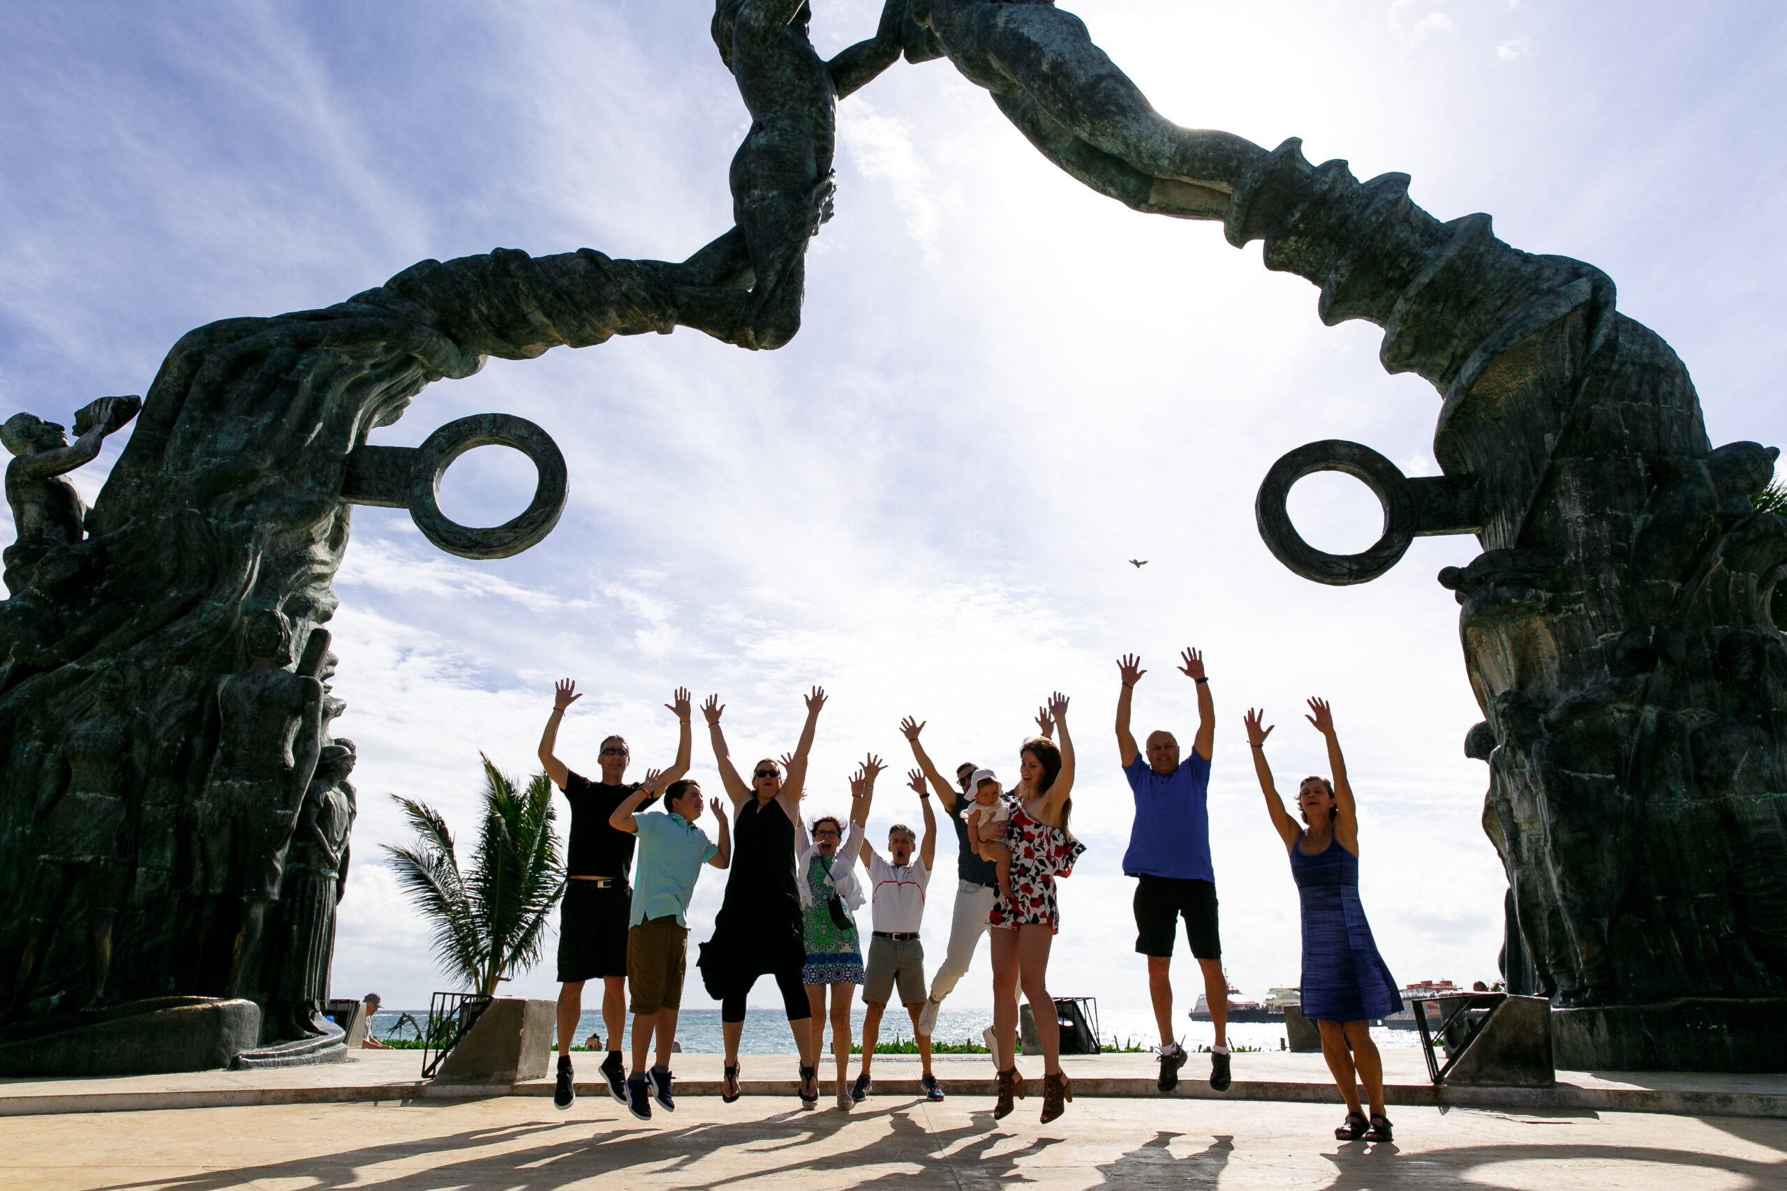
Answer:
POLYGON ((291 673, 291 623, 268 609, 243 627, 248 670, 218 680, 218 752, 198 798, 206 921, 202 979, 245 991, 266 907, 279 898, 286 848, 320 752, 323 686, 291 673), (227 975, 216 971, 227 962, 227 975))

